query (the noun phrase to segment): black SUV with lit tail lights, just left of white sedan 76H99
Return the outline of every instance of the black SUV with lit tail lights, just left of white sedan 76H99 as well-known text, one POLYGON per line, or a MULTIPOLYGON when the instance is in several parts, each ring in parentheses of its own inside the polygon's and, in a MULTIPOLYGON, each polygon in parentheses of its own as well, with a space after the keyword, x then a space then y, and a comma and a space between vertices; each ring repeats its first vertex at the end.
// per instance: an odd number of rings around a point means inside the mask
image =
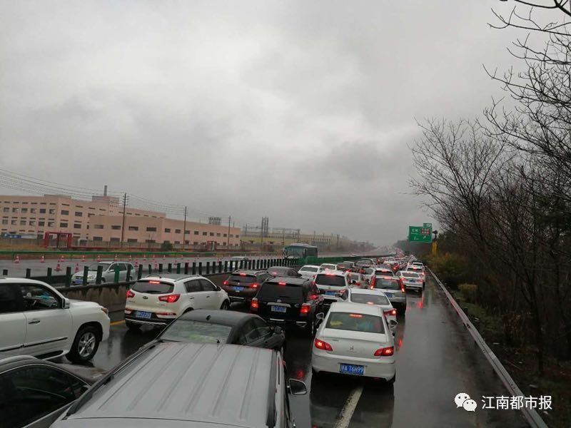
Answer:
POLYGON ((275 277, 262 284, 250 310, 268 322, 295 325, 313 335, 315 315, 323 312, 323 296, 305 278, 275 277))

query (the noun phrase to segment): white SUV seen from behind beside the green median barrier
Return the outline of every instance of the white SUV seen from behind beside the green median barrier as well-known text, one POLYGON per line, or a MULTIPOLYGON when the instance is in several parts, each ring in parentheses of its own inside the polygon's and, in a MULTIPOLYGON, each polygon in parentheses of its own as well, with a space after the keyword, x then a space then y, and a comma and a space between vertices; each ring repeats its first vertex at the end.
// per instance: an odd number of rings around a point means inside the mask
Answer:
POLYGON ((130 330, 164 327, 189 310, 229 308, 226 291, 211 280, 166 272, 141 278, 127 290, 125 323, 130 330))

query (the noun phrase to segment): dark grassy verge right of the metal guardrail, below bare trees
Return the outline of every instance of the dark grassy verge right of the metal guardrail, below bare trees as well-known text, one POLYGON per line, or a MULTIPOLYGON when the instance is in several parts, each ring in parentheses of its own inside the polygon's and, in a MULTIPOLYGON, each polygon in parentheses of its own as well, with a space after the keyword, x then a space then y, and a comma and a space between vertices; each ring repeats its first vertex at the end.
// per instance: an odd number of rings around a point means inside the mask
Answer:
POLYGON ((503 322, 500 316, 484 307, 467 302, 459 290, 448 291, 470 317, 480 335, 510 373, 526 397, 551 396, 552 410, 537 408, 549 427, 571 427, 571 362, 544 357, 545 372, 537 373, 536 353, 530 347, 510 347, 503 343, 503 322))

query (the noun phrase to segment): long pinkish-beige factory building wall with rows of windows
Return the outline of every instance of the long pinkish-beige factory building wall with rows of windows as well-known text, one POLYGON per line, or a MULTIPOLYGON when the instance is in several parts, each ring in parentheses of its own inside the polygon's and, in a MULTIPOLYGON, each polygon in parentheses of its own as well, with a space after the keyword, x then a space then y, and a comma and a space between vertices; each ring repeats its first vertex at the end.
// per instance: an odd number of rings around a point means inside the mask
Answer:
MULTIPOLYGON (((67 232, 81 240, 119 242, 123 207, 118 198, 94 196, 93 199, 76 200, 60 195, 0 196, 0 230, 2 233, 35 235, 67 232)), ((166 218, 164 213, 127 207, 124 240, 182 243, 183 224, 183 220, 166 218)), ((186 230, 188 245, 215 241, 218 248, 227 246, 226 226, 186 222, 186 230)), ((230 228, 230 248, 240 245, 240 233, 239 228, 230 228)))

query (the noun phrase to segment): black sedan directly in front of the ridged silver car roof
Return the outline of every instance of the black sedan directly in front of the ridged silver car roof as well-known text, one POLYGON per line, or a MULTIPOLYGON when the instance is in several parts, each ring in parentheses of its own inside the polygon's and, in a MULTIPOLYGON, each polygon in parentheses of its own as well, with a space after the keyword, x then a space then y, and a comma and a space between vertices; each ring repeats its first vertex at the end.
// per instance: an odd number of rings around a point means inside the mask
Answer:
POLYGON ((258 315, 228 310, 192 310, 166 327, 161 342, 230 343, 283 350, 281 327, 268 325, 258 315))

